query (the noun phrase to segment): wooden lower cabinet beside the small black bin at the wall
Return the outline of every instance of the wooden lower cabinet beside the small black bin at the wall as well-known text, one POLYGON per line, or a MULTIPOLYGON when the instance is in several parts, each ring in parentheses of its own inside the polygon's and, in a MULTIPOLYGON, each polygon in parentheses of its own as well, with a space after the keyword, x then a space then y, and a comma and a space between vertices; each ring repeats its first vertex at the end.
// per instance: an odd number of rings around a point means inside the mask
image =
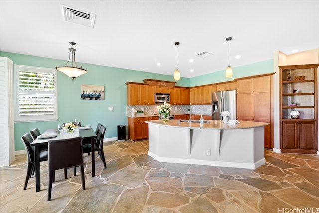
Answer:
POLYGON ((149 124, 145 121, 158 120, 159 116, 151 117, 128 117, 128 138, 130 140, 139 140, 149 137, 149 124))

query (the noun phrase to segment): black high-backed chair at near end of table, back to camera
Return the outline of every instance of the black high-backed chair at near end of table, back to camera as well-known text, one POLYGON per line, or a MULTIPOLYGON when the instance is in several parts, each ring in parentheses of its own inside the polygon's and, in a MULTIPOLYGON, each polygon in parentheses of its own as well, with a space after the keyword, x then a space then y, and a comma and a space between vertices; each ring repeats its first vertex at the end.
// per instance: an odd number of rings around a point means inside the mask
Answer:
POLYGON ((80 166, 82 189, 85 190, 83 150, 81 137, 49 141, 48 162, 48 201, 51 200, 54 171, 58 169, 64 169, 64 175, 67 176, 66 168, 80 166))

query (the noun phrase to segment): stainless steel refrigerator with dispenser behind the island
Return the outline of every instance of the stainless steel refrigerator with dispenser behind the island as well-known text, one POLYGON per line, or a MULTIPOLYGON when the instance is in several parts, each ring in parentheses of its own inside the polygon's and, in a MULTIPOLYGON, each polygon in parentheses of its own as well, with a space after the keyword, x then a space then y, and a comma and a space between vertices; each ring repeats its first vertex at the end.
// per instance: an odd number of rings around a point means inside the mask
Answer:
POLYGON ((221 120, 220 113, 230 112, 230 120, 236 120, 236 90, 212 93, 212 119, 221 120))

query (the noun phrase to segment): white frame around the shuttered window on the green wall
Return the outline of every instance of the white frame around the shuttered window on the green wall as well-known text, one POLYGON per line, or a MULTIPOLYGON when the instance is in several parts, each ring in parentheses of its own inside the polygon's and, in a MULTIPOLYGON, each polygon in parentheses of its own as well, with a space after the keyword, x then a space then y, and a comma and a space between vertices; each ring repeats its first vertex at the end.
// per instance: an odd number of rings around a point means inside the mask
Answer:
MULTIPOLYGON (((34 67, 25 65, 14 65, 14 121, 15 122, 33 122, 33 121, 53 121, 58 120, 58 74, 56 69, 45 67, 34 67), (53 114, 52 115, 19 115, 19 71, 38 72, 38 73, 50 73, 53 74, 53 114)), ((27 91, 27 90, 24 90, 27 91)), ((28 93, 28 92, 26 92, 28 93)), ((30 91, 29 94, 34 94, 34 91, 30 91)))

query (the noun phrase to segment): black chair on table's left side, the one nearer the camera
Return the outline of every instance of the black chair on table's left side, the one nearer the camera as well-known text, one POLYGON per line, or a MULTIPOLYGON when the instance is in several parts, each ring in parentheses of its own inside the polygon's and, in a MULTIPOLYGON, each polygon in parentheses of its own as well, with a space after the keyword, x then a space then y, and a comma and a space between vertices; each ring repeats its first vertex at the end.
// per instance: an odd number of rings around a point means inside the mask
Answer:
MULTIPOLYGON (((28 168, 26 172, 26 178, 24 182, 24 190, 28 185, 29 178, 31 178, 32 174, 34 174, 35 164, 34 164, 34 147, 31 147, 30 144, 33 142, 33 138, 29 133, 25 133, 22 137, 23 145, 26 149, 26 153, 28 155, 28 168)), ((48 160, 48 151, 40 150, 40 161, 48 160)))

